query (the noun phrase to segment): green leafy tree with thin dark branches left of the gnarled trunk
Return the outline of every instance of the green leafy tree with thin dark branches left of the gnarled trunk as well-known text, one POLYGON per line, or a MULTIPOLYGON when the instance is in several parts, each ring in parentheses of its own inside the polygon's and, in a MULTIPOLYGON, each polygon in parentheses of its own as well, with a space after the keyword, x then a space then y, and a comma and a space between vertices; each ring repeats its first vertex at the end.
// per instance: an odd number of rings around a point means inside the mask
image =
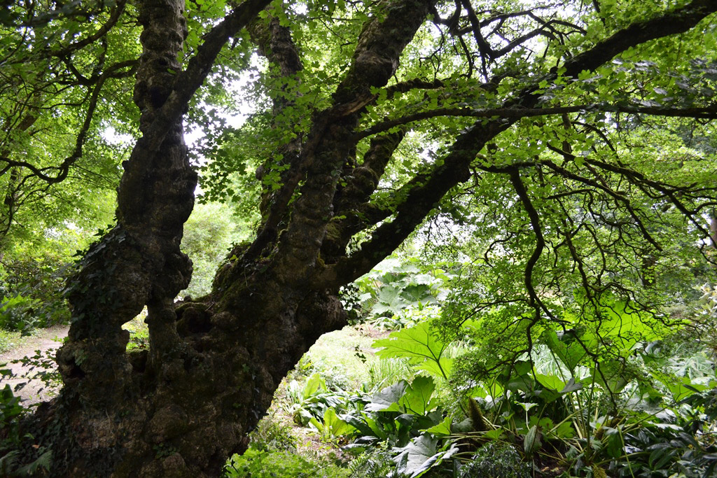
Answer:
POLYGON ((116 159, 123 154, 103 138, 103 130, 136 128, 130 93, 140 49, 123 44, 133 37, 133 28, 120 22, 125 6, 125 1, 3 6, 3 254, 43 227, 66 220, 84 225, 102 216, 93 206, 116 187, 116 159))

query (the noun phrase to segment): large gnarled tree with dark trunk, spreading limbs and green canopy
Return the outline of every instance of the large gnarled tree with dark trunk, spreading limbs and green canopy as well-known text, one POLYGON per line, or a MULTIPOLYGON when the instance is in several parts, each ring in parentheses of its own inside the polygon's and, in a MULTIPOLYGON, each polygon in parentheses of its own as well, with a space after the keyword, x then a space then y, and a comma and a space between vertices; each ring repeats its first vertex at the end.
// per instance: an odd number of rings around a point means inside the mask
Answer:
POLYGON ((645 269, 708 236, 713 156, 680 149, 671 131, 708 135, 717 118, 712 0, 187 7, 125 6, 142 27, 141 138, 116 226, 68 283, 65 386, 19 445, 28 460, 51 450, 52 474, 219 474, 300 355, 346 323, 339 289, 440 212, 493 234, 493 257, 511 267, 503 292, 531 323, 554 320, 546 297, 564 275, 594 302, 637 300, 645 269), (179 245, 197 181, 182 120, 189 107, 209 118, 202 84, 211 93, 254 48, 270 65, 257 83, 270 106, 210 131, 207 169, 221 196, 227 168, 258 166, 236 180, 260 181, 257 234, 209 295, 175 304, 191 277, 179 245), (121 325, 145 305, 150 349, 126 353, 121 325))

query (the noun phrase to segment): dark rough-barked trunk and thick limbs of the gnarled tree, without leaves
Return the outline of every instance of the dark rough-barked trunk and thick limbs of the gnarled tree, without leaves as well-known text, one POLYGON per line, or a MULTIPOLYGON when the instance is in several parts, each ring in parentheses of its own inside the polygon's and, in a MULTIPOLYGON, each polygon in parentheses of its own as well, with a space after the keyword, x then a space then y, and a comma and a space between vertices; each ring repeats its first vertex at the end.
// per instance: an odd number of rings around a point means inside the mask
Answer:
MULTIPOLYGON (((440 163, 399 191, 404 200, 392 211, 395 219, 347 256, 353 234, 391 214, 371 209, 368 199, 404 137, 399 131, 374 138, 355 166, 352 138, 360 115, 376 99, 374 88, 394 75, 433 9, 428 0, 376 2, 381 12, 364 24, 331 106, 313 115, 300 145, 290 145, 290 170, 262 206, 257 239, 232 251, 209 295, 175 305, 191 277, 179 244, 196 186, 182 112, 224 42, 269 1, 237 6, 206 34, 181 72, 176 57, 186 35, 183 1, 138 3, 144 31, 134 100, 143 138, 124 165, 117 226, 90 248, 68 285, 72 327, 57 354, 65 387, 24 429, 34 436, 28 456, 36 453, 33 445, 51 448, 56 476, 218 476, 232 453, 246 449, 247 434, 300 356, 321 334, 346 323, 338 288, 390 254, 450 188, 470 177, 483 145, 517 120, 481 119, 458 135, 440 163), (351 177, 340 187, 347 171, 351 177), (334 218, 336 212, 341 216, 334 218), (145 305, 150 348, 126 353, 128 333, 121 326, 145 305)), ((701 10, 673 15, 682 23, 668 18, 664 25, 630 27, 572 57, 566 75, 594 70, 640 42, 685 31, 717 8, 706 0, 693 4, 701 10)), ((298 72, 288 32, 278 24, 270 30, 273 38, 255 32, 255 39, 269 46, 262 47, 265 52, 275 49, 270 60, 283 72, 298 72)), ((539 82, 556 77, 551 72, 536 79, 510 95, 505 107, 537 107, 539 82)), ((511 167, 485 166, 517 178, 518 166, 511 167)))

